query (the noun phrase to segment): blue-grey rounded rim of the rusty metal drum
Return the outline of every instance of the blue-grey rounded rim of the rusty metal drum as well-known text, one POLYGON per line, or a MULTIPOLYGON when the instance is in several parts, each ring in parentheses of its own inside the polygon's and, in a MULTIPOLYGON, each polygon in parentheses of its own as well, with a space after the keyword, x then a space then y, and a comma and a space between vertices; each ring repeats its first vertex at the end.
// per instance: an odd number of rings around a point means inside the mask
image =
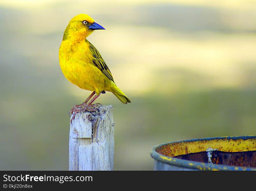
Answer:
POLYGON ((165 164, 169 164, 169 165, 173 165, 173 166, 184 167, 184 168, 189 168, 189 169, 197 169, 197 170, 256 170, 256 168, 251 168, 251 167, 214 165, 211 163, 202 163, 202 162, 195 162, 195 161, 191 161, 191 160, 184 160, 184 159, 174 158, 174 157, 170 157, 170 156, 165 156, 156 151, 157 148, 159 148, 163 145, 166 145, 166 144, 171 144, 171 143, 194 142, 194 141, 215 140, 215 139, 248 140, 248 139, 255 139, 255 138, 256 138, 256 136, 211 137, 211 138, 200 138, 200 139, 168 142, 168 143, 160 144, 160 145, 153 147, 150 151, 150 156, 161 163, 165 163, 165 164))

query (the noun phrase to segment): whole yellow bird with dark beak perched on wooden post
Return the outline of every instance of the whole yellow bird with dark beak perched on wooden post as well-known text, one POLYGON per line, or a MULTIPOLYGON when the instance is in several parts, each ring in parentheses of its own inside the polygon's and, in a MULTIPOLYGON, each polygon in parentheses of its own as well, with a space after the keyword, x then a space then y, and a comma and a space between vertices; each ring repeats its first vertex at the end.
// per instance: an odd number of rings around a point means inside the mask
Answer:
POLYGON ((88 15, 80 14, 70 20, 64 31, 59 49, 61 70, 64 76, 79 88, 93 91, 83 103, 75 105, 70 110, 73 114, 72 119, 79 112, 97 108, 98 104, 92 104, 93 101, 106 91, 112 92, 122 103, 131 103, 115 85, 109 67, 99 51, 86 39, 98 29, 105 28, 94 22, 88 15))

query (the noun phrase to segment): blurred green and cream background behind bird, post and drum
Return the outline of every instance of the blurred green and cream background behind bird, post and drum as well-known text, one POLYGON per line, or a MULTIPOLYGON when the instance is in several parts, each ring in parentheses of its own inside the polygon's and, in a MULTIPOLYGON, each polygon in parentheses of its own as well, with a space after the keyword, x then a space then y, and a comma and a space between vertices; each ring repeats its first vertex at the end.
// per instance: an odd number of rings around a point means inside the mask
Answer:
POLYGON ((152 170, 155 145, 256 135, 256 1, 0 1, 0 170, 67 170, 68 112, 90 94, 58 49, 72 17, 132 100, 112 93, 115 170, 152 170))

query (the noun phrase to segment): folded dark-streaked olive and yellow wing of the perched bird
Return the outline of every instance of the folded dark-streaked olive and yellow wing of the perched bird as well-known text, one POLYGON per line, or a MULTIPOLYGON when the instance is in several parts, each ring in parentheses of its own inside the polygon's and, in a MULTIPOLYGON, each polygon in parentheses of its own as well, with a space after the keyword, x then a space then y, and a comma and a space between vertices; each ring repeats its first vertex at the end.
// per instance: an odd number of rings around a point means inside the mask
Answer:
POLYGON ((93 46, 92 43, 89 42, 89 44, 90 44, 90 51, 93 54, 93 64, 97 66, 99 70, 102 71, 102 73, 105 74, 111 81, 114 82, 114 79, 109 70, 109 67, 106 65, 99 51, 93 46))

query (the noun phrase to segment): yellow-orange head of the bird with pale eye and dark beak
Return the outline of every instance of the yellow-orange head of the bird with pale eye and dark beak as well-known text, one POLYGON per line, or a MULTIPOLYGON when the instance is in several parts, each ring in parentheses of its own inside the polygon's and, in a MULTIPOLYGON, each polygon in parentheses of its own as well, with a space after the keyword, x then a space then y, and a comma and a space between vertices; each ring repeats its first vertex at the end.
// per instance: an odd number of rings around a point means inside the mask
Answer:
POLYGON ((72 18, 64 31, 63 40, 69 38, 85 39, 94 30, 105 29, 89 16, 80 14, 72 18))

